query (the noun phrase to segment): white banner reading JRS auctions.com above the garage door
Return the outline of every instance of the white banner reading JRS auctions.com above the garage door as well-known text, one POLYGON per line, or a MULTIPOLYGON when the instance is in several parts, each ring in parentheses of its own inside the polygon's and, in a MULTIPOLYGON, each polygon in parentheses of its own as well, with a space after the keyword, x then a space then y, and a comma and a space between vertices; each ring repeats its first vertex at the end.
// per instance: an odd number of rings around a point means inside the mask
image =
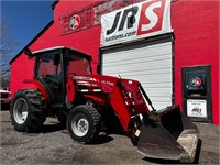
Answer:
POLYGON ((103 14, 101 31, 102 46, 170 32, 170 0, 146 0, 103 14))

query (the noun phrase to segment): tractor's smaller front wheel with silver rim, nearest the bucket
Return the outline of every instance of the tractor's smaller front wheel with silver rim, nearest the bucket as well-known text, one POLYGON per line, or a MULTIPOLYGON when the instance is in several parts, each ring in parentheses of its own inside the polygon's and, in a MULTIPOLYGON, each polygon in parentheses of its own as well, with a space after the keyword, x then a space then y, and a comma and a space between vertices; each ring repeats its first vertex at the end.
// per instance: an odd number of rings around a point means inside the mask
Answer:
POLYGON ((70 110, 67 130, 74 141, 91 143, 100 132, 101 116, 91 106, 77 106, 70 110))

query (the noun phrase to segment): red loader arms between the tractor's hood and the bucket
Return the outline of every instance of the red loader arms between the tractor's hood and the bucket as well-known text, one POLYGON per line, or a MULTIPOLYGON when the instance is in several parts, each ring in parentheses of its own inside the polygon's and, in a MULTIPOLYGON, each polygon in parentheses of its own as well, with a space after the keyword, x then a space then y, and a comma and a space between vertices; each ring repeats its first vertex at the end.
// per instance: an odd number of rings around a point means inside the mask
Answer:
MULTIPOLYGON (((105 87, 106 85, 102 84, 101 86, 105 87)), ((139 121, 140 114, 150 113, 140 91, 140 82, 136 80, 117 78, 111 92, 105 89, 103 92, 109 95, 109 102, 125 132, 131 133, 132 127, 134 127, 134 122, 139 121)))

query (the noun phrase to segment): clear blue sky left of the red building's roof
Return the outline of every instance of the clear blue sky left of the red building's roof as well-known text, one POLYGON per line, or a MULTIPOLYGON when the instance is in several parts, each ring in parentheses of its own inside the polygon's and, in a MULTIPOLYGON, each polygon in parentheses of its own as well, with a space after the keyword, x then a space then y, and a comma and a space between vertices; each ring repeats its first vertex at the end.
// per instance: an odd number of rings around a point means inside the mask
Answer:
POLYGON ((1 19, 20 45, 15 56, 52 20, 54 0, 0 0, 1 19))

